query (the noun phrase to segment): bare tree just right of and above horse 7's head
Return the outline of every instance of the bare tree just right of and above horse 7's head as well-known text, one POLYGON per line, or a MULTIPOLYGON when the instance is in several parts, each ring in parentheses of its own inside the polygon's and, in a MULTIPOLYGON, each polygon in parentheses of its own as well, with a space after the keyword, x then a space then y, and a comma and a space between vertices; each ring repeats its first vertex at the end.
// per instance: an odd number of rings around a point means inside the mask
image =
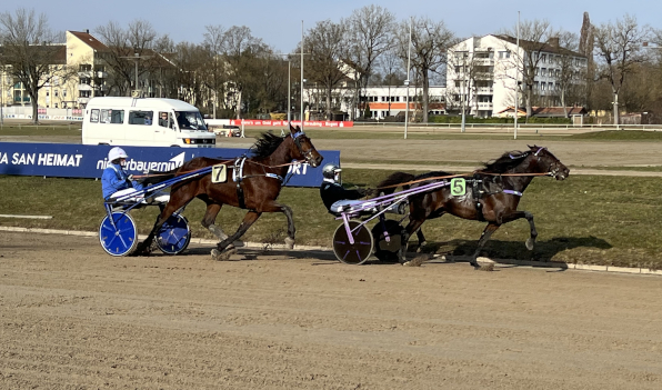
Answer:
POLYGON ((320 21, 304 38, 310 56, 304 60, 309 82, 317 82, 324 89, 327 118, 332 119, 331 98, 342 80, 348 64, 341 60, 347 52, 344 27, 330 20, 320 21))

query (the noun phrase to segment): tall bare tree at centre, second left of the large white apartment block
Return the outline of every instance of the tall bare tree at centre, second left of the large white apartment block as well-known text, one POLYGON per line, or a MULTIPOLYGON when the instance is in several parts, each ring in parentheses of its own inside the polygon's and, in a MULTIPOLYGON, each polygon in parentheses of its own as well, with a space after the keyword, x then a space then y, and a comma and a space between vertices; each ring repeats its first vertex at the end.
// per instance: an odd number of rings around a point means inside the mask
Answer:
POLYGON ((351 64, 355 81, 352 118, 373 73, 375 61, 393 46, 391 34, 394 21, 395 17, 389 10, 374 4, 354 10, 347 20, 341 21, 345 24, 349 42, 343 60, 351 64))

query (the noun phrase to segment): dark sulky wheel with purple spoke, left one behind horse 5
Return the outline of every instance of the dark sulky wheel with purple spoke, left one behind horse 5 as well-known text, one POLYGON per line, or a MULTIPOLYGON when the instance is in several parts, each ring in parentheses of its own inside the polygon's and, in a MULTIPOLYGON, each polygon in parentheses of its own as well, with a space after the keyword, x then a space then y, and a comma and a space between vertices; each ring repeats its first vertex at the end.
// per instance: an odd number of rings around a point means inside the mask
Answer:
POLYGON ((333 253, 345 264, 362 264, 372 253, 374 242, 372 234, 364 224, 360 224, 359 221, 349 221, 350 230, 353 230, 354 243, 350 243, 344 223, 341 223, 333 233, 333 253))

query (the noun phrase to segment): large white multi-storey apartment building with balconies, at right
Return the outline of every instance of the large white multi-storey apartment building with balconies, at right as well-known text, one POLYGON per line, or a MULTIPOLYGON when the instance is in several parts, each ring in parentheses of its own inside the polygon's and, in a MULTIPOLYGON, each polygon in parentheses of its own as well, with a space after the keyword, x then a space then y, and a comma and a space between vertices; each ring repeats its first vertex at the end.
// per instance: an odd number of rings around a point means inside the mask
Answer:
POLYGON ((583 82, 580 74, 588 67, 586 58, 559 46, 558 39, 531 42, 509 36, 488 34, 469 38, 448 51, 448 109, 468 114, 492 117, 524 104, 522 63, 534 63, 534 106, 559 106, 559 88, 569 82, 583 82), (532 61, 529 61, 531 56, 532 61), (569 78, 568 74, 571 73, 569 78), (571 80, 571 81, 569 81, 571 80))

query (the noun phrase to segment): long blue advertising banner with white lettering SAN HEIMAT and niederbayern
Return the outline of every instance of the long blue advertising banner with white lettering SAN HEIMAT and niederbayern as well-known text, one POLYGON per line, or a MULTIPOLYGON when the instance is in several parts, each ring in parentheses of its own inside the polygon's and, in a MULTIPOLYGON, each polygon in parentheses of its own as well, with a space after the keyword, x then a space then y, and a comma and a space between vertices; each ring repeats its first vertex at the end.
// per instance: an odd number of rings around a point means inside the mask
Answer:
MULTIPOLYGON (((0 174, 42 176, 53 178, 101 178, 108 164, 108 146, 70 143, 0 142, 0 174)), ((233 159, 247 152, 229 148, 156 148, 122 147, 129 159, 127 169, 132 174, 147 171, 169 171, 181 167, 195 157, 233 159)), ((340 166, 340 151, 318 150, 324 158, 322 166, 340 166)), ((322 167, 308 163, 291 166, 287 182, 289 187, 319 187, 322 167)))

